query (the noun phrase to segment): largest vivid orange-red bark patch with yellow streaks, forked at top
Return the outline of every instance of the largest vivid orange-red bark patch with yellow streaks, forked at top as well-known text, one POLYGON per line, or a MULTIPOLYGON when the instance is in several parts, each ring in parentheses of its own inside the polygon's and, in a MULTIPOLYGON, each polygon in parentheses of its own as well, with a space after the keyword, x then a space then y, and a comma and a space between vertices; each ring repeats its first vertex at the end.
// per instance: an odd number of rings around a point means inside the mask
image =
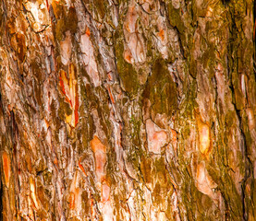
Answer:
POLYGON ((65 100, 70 105, 72 110, 71 115, 66 116, 66 122, 72 127, 76 127, 79 122, 79 94, 78 83, 76 79, 76 67, 70 64, 68 68, 69 78, 63 70, 59 72, 59 86, 61 92, 65 96, 65 100))

